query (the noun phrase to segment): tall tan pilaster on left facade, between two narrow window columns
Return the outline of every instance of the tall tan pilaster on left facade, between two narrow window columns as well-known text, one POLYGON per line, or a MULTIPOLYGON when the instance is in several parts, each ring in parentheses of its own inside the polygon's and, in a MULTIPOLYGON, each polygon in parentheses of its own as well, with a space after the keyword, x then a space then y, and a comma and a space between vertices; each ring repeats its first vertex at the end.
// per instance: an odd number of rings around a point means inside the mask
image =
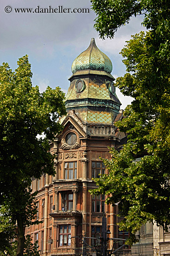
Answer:
POLYGON ((44 209, 44 256, 47 256, 47 240, 48 240, 48 204, 49 204, 49 175, 46 174, 45 183, 45 209, 44 209))

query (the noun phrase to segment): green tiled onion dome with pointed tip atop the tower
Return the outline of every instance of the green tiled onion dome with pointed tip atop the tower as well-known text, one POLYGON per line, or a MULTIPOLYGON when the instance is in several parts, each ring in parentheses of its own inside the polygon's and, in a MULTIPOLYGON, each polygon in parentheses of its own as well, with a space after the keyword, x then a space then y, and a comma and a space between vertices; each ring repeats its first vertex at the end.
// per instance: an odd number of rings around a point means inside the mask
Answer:
POLYGON ((101 70, 112 72, 112 62, 106 54, 102 53, 96 46, 94 38, 91 39, 87 50, 82 52, 74 61, 71 67, 74 74, 78 70, 101 70))

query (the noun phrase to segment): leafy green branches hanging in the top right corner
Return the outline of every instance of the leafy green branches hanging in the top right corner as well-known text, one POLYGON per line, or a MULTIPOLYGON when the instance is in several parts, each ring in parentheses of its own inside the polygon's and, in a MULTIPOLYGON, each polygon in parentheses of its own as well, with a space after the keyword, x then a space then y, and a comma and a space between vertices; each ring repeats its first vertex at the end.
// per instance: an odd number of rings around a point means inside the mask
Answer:
POLYGON ((164 34, 165 30, 168 32, 169 0, 91 0, 91 3, 97 14, 94 28, 102 39, 113 38, 117 29, 129 23, 133 15, 141 14, 147 29, 158 29, 159 34, 164 34))

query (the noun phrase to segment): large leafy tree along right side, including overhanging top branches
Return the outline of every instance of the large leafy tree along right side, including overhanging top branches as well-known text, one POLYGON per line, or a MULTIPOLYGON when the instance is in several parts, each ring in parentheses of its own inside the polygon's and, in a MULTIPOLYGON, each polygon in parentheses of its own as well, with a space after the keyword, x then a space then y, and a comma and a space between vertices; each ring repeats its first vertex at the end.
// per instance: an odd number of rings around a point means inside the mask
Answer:
POLYGON ((134 100, 116 125, 128 134, 128 143, 120 152, 111 149, 112 159, 104 160, 109 175, 95 180, 99 188, 93 192, 108 195, 107 203, 120 202, 125 217, 120 229, 130 231, 132 244, 147 221, 164 229, 170 224, 170 9, 166 0, 92 4, 101 38, 113 38, 133 14, 144 11, 143 24, 150 29, 132 36, 121 51, 127 73, 116 86, 134 100))

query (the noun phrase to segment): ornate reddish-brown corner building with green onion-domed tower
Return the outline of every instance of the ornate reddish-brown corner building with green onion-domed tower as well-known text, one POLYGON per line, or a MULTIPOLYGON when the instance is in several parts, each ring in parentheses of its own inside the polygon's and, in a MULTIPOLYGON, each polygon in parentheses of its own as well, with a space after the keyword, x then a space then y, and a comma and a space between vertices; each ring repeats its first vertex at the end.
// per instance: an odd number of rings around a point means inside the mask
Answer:
POLYGON ((119 150, 126 141, 126 135, 114 126, 123 118, 123 111, 111 72, 112 62, 93 38, 73 61, 65 100, 68 114, 60 119, 63 132, 50 143, 50 153, 56 156, 56 175, 32 181, 33 191, 38 190, 37 218, 43 223, 25 233, 38 240, 44 256, 82 255, 84 237, 86 255, 95 256, 93 247, 100 236, 103 213, 110 237, 128 236, 119 233, 115 224, 116 207, 106 205, 104 195, 88 192, 95 188, 92 178, 107 173, 101 158, 110 158, 108 147, 119 150))

